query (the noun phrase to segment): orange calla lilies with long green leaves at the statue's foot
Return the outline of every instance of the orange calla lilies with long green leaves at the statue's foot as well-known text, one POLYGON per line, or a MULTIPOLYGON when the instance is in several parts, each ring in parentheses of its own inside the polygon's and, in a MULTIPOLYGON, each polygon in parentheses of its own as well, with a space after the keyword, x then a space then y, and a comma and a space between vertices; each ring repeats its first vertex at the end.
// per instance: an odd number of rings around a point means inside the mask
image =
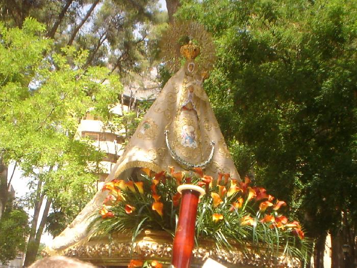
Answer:
MULTIPOLYGON (((244 182, 229 174, 212 178, 200 168, 190 172, 170 168, 168 173, 143 168, 138 181, 107 182, 103 191, 109 195, 90 226, 92 236, 130 230, 134 241, 144 229, 164 230, 174 236, 181 199, 177 186, 184 183, 206 191, 198 204, 196 242, 211 239, 217 248, 230 249, 232 243, 238 243, 264 248, 269 256, 282 255, 283 250, 283 255, 307 258, 310 241, 297 221, 289 221, 279 212, 287 205, 284 201, 262 187, 251 186, 248 177, 244 182)), ((134 267, 134 262, 130 265, 134 267)))

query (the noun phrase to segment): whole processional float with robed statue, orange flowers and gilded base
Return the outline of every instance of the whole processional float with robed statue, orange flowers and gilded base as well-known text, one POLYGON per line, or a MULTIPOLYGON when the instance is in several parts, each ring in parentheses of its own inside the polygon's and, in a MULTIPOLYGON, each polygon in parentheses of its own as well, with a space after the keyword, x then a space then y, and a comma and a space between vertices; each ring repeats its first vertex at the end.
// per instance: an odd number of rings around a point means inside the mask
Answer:
POLYGON ((296 241, 301 240, 302 232, 297 222, 289 223, 277 210, 271 210, 270 220, 268 214, 263 217, 267 208, 275 209, 284 202, 274 204, 263 188, 253 189, 247 179, 240 180, 203 90, 214 56, 210 36, 193 22, 175 29, 166 34, 164 50, 172 66, 179 62, 179 51, 185 63, 145 114, 104 189, 44 254, 109 267, 135 267, 145 262, 152 267, 200 267, 208 258, 230 267, 298 266, 300 261, 284 252, 291 243, 284 235, 281 239, 286 245, 276 248, 257 247, 262 243, 258 237, 256 245, 232 239, 241 235, 254 240, 254 232, 263 224, 272 233, 285 228, 300 234, 294 236, 296 241), (182 36, 193 42, 177 48, 182 36), (250 216, 244 209, 254 198, 259 214, 250 216), (198 240, 196 226, 203 233, 198 240), (232 237, 227 233, 230 226, 232 237))

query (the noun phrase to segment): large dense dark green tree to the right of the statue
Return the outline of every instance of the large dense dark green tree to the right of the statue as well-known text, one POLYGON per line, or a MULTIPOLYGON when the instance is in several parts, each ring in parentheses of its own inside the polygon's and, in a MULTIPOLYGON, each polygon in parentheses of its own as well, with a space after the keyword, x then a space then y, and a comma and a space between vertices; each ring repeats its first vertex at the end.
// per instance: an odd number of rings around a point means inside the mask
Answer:
POLYGON ((315 267, 342 215, 356 222, 356 11, 353 1, 207 0, 177 14, 213 33, 206 88, 239 172, 290 202, 317 239, 315 267))

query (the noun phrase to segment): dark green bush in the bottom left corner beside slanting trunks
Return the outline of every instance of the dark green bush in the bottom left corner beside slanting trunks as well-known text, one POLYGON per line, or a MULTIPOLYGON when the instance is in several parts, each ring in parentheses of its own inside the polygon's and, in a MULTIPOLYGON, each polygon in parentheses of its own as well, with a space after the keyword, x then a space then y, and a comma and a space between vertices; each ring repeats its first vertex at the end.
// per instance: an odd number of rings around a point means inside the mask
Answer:
POLYGON ((7 206, 0 220, 0 262, 14 259, 26 247, 28 215, 21 208, 7 206))

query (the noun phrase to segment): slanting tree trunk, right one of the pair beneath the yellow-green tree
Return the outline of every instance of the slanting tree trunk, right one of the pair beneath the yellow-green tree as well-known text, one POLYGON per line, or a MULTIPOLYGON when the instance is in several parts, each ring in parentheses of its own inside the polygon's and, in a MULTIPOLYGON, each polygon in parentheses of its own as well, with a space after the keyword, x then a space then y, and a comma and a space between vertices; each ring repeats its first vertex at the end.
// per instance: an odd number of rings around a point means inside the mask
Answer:
POLYGON ((40 247, 42 232, 43 232, 44 226, 47 223, 47 216, 48 216, 48 211, 51 206, 51 203, 52 203, 52 201, 50 199, 47 199, 45 208, 43 210, 40 226, 38 227, 38 230, 36 232, 35 239, 33 241, 31 241, 31 245, 30 245, 30 241, 29 241, 28 248, 26 251, 25 262, 24 262, 25 267, 31 265, 36 260, 38 248, 40 247))

